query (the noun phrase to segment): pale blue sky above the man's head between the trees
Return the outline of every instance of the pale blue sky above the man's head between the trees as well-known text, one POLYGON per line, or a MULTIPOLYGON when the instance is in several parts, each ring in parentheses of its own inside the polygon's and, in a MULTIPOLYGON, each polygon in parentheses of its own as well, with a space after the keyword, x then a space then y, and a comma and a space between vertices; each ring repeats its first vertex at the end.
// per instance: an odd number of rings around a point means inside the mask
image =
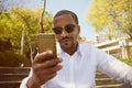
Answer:
MULTIPOLYGON (((46 10, 52 12, 53 15, 57 11, 63 9, 74 11, 79 19, 79 25, 81 29, 80 35, 89 41, 95 41, 96 38, 95 38, 94 28, 85 20, 86 11, 88 10, 90 1, 91 0, 81 0, 81 1, 80 0, 46 0, 46 10)), ((28 8, 33 8, 33 9, 43 8, 42 0, 26 0, 24 4, 28 8)))

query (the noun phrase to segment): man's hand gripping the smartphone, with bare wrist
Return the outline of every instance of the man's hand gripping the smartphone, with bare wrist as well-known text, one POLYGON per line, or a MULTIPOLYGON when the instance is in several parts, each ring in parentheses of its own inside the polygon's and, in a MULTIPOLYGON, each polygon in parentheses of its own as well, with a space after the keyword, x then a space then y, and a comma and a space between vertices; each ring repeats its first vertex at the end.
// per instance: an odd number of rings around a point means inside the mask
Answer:
POLYGON ((40 88, 41 85, 54 78, 62 69, 61 62, 61 58, 53 58, 52 52, 36 55, 32 64, 33 76, 28 81, 28 88, 40 88))

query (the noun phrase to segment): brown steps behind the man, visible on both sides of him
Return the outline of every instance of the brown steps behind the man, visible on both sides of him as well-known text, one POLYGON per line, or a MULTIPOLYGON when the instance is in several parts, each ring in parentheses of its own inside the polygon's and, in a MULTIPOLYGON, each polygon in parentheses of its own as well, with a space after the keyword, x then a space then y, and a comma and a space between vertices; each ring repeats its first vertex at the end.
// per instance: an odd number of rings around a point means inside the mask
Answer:
MULTIPOLYGON (((28 76, 29 72, 30 67, 0 67, 0 88, 19 88, 21 80, 28 76)), ((122 84, 97 72, 96 85, 96 88, 117 88, 122 84)))

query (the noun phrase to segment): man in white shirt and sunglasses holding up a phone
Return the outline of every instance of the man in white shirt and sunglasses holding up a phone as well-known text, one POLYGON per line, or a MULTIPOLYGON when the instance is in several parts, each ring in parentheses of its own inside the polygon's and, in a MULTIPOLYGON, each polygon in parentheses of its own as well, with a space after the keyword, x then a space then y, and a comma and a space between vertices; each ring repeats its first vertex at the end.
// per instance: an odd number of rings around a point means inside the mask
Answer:
POLYGON ((57 58, 46 61, 53 55, 51 51, 36 55, 30 76, 22 81, 21 88, 95 88, 97 69, 132 84, 132 67, 92 45, 78 43, 80 26, 74 12, 57 12, 53 23, 59 43, 57 58))

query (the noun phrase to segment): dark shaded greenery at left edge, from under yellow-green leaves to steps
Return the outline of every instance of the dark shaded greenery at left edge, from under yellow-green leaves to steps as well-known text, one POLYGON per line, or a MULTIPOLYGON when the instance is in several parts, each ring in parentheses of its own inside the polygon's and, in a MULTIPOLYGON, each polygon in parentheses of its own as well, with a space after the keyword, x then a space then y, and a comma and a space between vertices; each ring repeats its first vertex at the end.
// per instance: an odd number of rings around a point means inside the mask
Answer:
POLYGON ((29 63, 29 59, 13 51, 9 38, 0 38, 0 66, 15 67, 26 63, 29 63))

